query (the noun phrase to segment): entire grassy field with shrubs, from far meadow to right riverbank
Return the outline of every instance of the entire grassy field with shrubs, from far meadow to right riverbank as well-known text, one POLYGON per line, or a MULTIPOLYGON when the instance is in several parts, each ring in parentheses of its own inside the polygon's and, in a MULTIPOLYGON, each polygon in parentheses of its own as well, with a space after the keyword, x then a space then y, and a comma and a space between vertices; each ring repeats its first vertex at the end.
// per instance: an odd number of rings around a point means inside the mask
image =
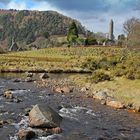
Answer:
POLYGON ((108 89, 125 104, 140 106, 140 50, 115 47, 46 48, 0 55, 0 70, 91 72, 90 76, 72 76, 93 91, 108 89))

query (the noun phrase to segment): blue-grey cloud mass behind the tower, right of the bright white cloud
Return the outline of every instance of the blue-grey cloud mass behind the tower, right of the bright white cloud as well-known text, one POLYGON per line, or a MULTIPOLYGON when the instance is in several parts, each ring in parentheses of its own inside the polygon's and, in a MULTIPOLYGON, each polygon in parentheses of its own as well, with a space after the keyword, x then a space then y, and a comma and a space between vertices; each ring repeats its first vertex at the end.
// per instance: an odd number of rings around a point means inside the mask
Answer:
MULTIPOLYGON (((40 0, 34 0, 40 2, 40 0)), ((140 0, 41 0, 55 5, 58 11, 80 20, 94 32, 108 32, 110 19, 115 22, 115 34, 123 31, 123 23, 135 16, 140 17, 140 0), (128 14, 129 13, 129 14, 128 14)))

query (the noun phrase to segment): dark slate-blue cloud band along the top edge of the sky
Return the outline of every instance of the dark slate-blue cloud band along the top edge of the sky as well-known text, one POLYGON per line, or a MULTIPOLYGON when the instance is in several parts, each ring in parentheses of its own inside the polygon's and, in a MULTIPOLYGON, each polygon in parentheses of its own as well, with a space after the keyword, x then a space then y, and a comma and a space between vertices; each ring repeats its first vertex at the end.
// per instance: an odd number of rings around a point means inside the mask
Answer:
POLYGON ((63 10, 77 11, 123 11, 135 9, 140 0, 34 0, 36 2, 46 1, 63 10))

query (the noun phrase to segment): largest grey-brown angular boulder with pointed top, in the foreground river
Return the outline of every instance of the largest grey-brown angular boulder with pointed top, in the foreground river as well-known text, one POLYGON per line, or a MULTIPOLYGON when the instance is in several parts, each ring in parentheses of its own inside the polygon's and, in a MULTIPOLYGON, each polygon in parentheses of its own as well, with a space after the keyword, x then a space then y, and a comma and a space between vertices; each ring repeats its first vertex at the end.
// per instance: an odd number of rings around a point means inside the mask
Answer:
POLYGON ((31 127, 56 128, 60 126, 62 117, 48 105, 35 105, 29 112, 31 127))

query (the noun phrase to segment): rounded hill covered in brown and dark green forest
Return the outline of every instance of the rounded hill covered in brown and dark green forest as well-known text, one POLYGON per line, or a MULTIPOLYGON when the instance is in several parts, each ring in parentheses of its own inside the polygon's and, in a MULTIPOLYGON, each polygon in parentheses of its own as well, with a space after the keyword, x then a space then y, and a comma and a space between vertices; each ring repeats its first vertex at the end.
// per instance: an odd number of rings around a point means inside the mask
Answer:
MULTIPOLYGON (((41 37, 66 35, 72 21, 55 11, 0 10, 0 47, 10 47, 13 39, 23 46, 41 37)), ((79 33, 85 34, 80 22, 74 21, 79 33)))

